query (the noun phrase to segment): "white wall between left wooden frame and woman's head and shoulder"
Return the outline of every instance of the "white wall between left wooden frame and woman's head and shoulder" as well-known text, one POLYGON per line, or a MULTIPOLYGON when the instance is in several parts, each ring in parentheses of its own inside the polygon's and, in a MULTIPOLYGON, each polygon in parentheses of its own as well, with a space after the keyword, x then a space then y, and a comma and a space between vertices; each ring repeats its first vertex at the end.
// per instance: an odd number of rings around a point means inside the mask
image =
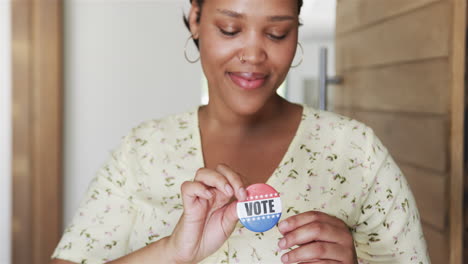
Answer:
POLYGON ((199 104, 200 65, 183 56, 188 2, 65 1, 65 224, 132 127, 199 104))

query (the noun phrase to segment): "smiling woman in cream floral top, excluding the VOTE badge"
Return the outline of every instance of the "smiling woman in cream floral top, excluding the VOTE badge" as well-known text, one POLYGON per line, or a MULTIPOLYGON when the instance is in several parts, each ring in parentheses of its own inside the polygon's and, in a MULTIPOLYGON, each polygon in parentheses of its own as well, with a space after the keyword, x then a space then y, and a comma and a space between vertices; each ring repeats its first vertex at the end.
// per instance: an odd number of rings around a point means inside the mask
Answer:
POLYGON ((276 94, 301 5, 192 2, 209 104, 124 139, 53 263, 429 263, 413 196, 372 130, 276 94), (253 233, 235 200, 265 182, 283 220, 253 233))

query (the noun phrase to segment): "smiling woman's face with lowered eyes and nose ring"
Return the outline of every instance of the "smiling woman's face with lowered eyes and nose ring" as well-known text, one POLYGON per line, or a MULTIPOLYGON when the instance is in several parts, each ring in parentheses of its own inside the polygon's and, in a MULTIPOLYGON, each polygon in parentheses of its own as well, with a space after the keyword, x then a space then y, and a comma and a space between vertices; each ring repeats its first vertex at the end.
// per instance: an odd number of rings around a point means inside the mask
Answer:
POLYGON ((205 0, 199 23, 198 11, 189 22, 210 104, 253 114, 274 101, 296 52, 297 0, 205 0))

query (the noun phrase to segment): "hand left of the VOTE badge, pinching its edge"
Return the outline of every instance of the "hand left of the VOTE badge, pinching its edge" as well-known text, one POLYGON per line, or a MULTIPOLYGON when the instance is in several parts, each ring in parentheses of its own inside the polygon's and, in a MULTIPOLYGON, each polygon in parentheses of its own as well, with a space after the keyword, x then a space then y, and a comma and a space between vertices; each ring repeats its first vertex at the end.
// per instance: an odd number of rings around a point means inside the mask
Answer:
POLYGON ((247 197, 240 175, 226 165, 202 168, 181 186, 184 212, 167 246, 176 263, 197 263, 218 250, 238 221, 236 202, 247 197))

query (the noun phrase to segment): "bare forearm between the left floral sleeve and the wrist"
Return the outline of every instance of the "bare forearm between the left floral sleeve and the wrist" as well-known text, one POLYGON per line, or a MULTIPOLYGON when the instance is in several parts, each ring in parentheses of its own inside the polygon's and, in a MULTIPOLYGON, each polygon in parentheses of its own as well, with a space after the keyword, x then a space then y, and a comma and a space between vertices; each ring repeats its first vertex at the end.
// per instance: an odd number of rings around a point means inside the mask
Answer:
POLYGON ((153 264, 153 263, 168 263, 176 264, 174 261, 174 252, 169 249, 169 237, 162 238, 154 243, 149 244, 129 255, 108 262, 112 264, 153 264))

